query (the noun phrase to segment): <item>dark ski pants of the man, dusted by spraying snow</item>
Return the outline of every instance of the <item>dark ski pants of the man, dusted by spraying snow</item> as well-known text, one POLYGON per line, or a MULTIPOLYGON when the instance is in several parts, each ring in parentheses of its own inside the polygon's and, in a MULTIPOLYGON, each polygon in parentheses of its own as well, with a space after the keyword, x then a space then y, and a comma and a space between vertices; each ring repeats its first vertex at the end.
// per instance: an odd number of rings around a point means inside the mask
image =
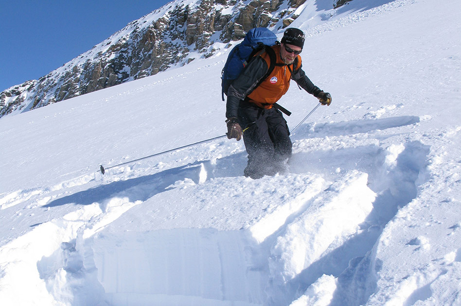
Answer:
POLYGON ((238 121, 248 153, 245 176, 257 179, 284 170, 285 161, 291 156, 290 132, 282 112, 258 107, 254 103, 240 101, 238 121))

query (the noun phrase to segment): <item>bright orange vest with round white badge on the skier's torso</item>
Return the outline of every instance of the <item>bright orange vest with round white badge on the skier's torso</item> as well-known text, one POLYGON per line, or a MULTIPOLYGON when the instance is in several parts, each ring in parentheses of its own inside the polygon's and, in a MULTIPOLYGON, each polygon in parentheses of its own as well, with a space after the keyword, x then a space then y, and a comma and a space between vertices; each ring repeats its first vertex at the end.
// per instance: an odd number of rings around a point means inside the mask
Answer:
MULTIPOLYGON (((277 58, 277 64, 283 64, 284 62, 280 58, 280 45, 271 47, 275 51, 277 58)), ((260 55, 267 63, 267 67, 270 66, 269 54, 264 52, 260 55)), ((290 87, 291 72, 293 65, 275 66, 272 73, 256 87, 249 95, 249 102, 255 103, 262 108, 272 108, 271 104, 279 101, 280 98, 287 92, 290 87), (288 68, 288 66, 290 68, 288 68)), ((298 65, 296 69, 301 67, 301 56, 298 55, 298 65)))

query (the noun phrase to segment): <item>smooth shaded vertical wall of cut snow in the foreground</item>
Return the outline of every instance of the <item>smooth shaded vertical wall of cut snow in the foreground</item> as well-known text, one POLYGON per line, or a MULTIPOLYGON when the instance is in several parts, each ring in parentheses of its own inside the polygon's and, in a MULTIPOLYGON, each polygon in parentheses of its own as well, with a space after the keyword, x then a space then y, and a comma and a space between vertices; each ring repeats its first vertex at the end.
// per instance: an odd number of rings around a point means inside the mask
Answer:
POLYGON ((97 234, 88 242, 109 305, 261 305, 263 281, 247 237, 173 229, 97 234))

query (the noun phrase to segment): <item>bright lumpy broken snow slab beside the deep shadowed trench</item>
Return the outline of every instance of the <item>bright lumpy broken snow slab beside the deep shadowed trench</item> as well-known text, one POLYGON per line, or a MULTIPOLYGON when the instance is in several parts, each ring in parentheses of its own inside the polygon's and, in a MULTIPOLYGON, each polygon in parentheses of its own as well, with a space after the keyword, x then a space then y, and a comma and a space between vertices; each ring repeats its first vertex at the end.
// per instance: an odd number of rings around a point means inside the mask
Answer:
POLYGON ((269 259, 274 280, 287 282, 329 251, 359 233, 373 208, 376 194, 368 174, 350 171, 332 184, 277 238, 269 259))

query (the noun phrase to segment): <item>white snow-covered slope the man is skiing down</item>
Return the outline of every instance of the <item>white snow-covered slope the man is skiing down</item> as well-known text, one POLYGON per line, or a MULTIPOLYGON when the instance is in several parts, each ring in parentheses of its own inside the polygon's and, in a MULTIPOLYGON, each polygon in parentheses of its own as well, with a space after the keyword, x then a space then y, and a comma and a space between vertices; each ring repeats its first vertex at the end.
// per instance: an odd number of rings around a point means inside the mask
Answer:
MULTIPOLYGON (((460 8, 296 19, 333 103, 286 175, 226 138, 99 172, 223 135, 229 50, 3 117, 0 305, 461 305, 460 8)), ((316 103, 292 86, 289 126, 316 103)))

